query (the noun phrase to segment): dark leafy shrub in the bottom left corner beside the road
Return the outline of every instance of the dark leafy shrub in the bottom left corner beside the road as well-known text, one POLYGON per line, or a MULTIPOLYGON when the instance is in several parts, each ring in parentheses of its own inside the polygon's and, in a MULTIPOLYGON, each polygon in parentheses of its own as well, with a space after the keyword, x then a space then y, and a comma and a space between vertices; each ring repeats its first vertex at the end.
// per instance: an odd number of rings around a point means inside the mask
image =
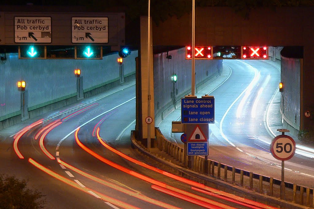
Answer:
POLYGON ((37 209, 43 208, 46 200, 37 190, 28 189, 25 180, 14 176, 0 175, 0 208, 37 209))

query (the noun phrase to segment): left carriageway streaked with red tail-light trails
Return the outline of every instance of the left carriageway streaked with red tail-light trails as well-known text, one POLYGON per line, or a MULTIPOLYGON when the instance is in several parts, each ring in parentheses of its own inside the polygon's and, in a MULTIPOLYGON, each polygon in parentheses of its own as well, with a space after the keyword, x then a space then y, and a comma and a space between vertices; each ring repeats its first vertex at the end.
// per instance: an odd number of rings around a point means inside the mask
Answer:
POLYGON ((1 131, 2 171, 46 195, 45 208, 266 208, 159 170, 131 148, 134 120, 126 83, 24 121, 1 131))

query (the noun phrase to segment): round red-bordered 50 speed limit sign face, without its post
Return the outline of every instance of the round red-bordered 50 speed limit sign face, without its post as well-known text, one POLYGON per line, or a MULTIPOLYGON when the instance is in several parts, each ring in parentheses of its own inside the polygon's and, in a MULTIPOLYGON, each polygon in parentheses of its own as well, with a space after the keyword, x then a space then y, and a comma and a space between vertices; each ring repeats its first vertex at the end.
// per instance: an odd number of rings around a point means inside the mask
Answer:
POLYGON ((273 138, 270 144, 270 152, 279 160, 288 160, 295 154, 295 141, 287 135, 279 135, 273 138))

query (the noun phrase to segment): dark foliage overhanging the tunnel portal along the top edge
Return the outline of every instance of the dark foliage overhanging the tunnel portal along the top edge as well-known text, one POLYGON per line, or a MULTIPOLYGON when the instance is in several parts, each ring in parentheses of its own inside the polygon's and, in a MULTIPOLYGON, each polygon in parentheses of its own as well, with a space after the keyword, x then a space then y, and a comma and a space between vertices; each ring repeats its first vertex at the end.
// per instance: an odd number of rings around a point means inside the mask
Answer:
MULTIPOLYGON (((151 16, 155 23, 163 22, 175 15, 180 18, 192 11, 192 0, 151 0, 151 16)), ((84 6, 95 12, 114 11, 125 12, 127 17, 136 19, 140 15, 147 15, 148 0, 15 0, 2 4, 26 5, 61 5, 84 6)), ((0 3, 1 4, 1 3, 0 3)), ((252 9, 260 7, 300 7, 314 6, 314 0, 195 0, 196 7, 232 7, 243 18, 248 18, 252 9)))

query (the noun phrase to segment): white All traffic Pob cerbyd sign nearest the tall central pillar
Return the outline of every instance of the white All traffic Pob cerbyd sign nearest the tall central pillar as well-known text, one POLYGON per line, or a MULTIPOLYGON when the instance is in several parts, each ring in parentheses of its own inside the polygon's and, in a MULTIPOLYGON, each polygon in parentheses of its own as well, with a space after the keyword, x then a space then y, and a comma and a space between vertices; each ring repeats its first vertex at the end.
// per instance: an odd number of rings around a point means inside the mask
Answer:
POLYGON ((72 43, 108 43, 108 18, 72 18, 72 43))

